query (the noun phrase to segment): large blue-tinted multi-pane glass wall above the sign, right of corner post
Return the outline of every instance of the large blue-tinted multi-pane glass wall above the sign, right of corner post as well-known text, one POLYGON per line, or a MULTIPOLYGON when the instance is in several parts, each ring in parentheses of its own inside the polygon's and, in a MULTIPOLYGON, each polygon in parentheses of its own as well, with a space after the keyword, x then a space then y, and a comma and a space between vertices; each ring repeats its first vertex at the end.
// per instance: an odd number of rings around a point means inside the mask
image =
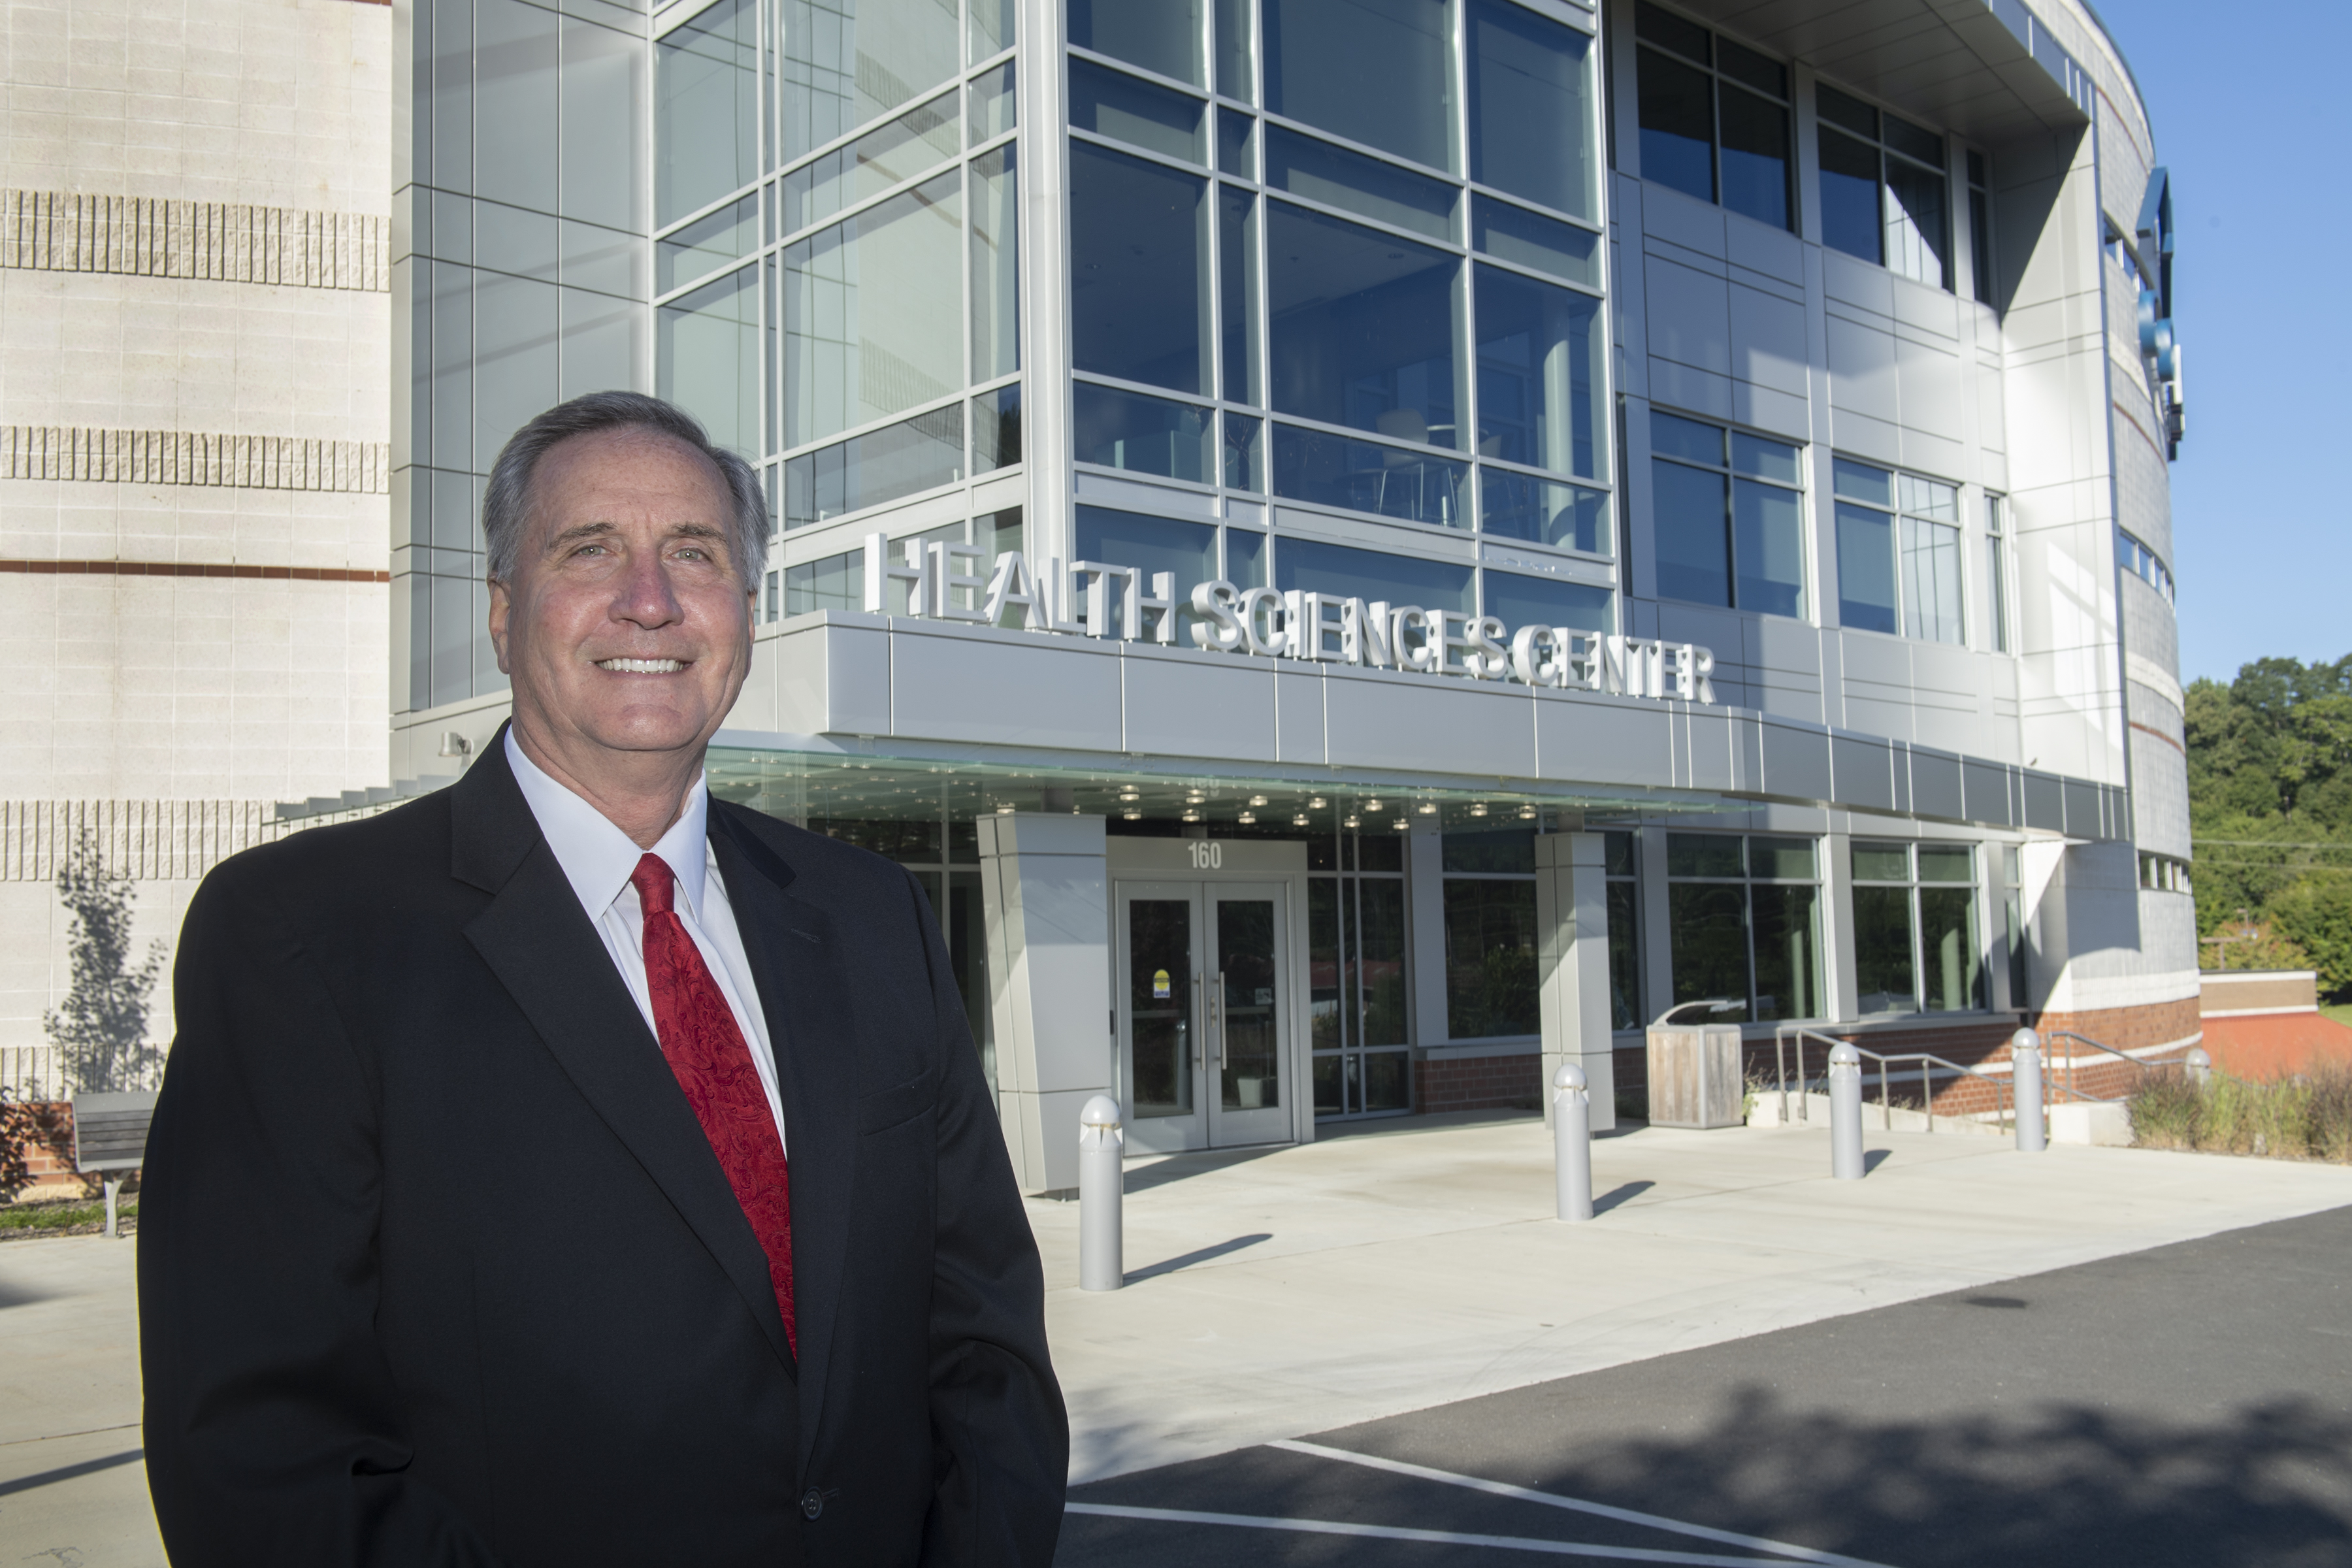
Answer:
POLYGON ((1077 463, 1585 557, 1562 623, 1613 625, 1592 35, 1508 0, 1065 14, 1077 463))

